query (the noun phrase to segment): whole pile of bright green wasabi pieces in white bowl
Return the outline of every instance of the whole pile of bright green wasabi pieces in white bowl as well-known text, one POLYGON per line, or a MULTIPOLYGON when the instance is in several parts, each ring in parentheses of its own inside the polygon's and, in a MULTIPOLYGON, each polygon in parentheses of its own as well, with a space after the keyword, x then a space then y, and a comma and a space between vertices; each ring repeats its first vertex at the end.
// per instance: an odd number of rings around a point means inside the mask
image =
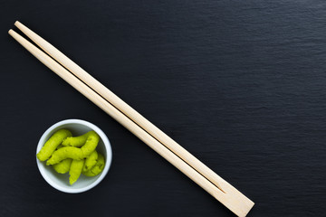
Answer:
POLYGON ((105 165, 104 156, 95 149, 100 141, 95 131, 72 137, 67 129, 60 129, 44 144, 37 158, 52 165, 59 174, 69 172, 69 183, 74 184, 81 174, 99 175, 105 165))

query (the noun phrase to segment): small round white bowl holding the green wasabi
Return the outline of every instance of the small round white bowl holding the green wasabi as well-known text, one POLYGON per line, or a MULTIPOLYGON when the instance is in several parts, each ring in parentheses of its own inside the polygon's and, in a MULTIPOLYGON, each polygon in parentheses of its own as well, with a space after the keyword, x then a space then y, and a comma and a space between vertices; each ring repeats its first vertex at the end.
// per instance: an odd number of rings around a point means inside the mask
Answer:
POLYGON ((70 185, 69 173, 64 175, 58 174, 53 169, 53 166, 46 165, 46 161, 42 162, 36 157, 37 166, 45 181, 59 191, 64 193, 82 193, 88 191, 99 184, 109 171, 112 160, 112 149, 110 146, 110 141, 99 127, 96 127, 90 122, 80 119, 67 119, 54 124, 43 133, 43 136, 37 145, 36 154, 41 150, 44 143, 53 135, 53 133, 61 128, 70 130, 73 137, 81 136, 82 134, 87 133, 91 130, 94 130, 101 137, 96 150, 98 150, 105 158, 105 166, 103 171, 100 175, 93 177, 81 175, 76 183, 70 185))

